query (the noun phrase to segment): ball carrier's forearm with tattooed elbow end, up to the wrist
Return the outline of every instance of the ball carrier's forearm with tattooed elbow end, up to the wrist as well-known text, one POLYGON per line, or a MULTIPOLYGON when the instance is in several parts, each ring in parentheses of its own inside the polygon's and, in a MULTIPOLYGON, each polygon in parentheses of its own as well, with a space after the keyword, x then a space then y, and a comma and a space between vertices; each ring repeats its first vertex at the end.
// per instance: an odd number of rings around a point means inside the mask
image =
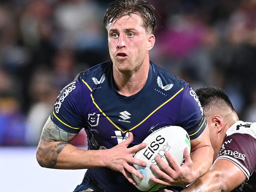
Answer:
POLYGON ((104 166, 102 150, 82 150, 67 142, 40 141, 38 163, 47 168, 84 169, 104 166))

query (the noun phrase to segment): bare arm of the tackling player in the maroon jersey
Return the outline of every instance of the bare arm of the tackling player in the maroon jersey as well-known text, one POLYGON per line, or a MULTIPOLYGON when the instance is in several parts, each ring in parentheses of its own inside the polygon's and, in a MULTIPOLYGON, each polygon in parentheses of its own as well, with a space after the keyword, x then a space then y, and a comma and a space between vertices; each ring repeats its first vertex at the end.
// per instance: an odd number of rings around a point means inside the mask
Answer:
POLYGON ((228 192, 245 181, 245 174, 234 163, 218 159, 211 169, 182 192, 228 192))

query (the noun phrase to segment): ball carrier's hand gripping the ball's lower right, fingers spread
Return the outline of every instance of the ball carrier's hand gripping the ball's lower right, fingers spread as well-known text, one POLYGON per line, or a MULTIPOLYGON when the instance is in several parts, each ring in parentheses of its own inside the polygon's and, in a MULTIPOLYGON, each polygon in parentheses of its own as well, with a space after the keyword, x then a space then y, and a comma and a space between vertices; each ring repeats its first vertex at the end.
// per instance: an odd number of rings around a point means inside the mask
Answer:
POLYGON ((184 186, 195 180, 195 176, 192 171, 193 162, 188 148, 185 148, 184 150, 185 163, 182 166, 180 166, 168 151, 165 151, 165 158, 169 165, 166 164, 158 155, 155 157, 161 170, 154 164, 151 164, 150 168, 161 177, 161 179, 150 177, 152 181, 167 186, 184 186))

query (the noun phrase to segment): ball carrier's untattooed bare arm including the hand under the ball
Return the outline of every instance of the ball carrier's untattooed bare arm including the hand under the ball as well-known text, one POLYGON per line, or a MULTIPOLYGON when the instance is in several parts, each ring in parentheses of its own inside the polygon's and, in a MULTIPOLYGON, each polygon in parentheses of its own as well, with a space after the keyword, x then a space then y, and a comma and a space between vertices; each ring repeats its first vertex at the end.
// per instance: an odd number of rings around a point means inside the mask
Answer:
POLYGON ((160 175, 161 179, 156 179, 155 177, 150 179, 163 185, 183 186, 192 183, 195 179, 204 175, 209 170, 213 161, 213 148, 211 147, 209 137, 209 128, 206 125, 201 135, 191 140, 191 154, 189 154, 187 148, 185 149, 185 163, 182 166, 168 151, 165 152, 165 157, 169 164, 166 164, 160 157, 156 156, 161 170, 153 164, 151 168, 160 175))

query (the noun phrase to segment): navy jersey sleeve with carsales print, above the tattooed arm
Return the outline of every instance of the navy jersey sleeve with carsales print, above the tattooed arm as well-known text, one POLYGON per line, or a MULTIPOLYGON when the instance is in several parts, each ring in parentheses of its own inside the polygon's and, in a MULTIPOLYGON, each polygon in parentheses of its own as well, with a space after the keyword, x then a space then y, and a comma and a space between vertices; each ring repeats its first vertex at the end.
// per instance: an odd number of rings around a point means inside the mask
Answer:
POLYGON ((50 115, 57 126, 70 133, 78 133, 85 124, 83 109, 86 98, 82 83, 77 76, 74 81, 64 87, 59 93, 54 104, 54 111, 50 115))

